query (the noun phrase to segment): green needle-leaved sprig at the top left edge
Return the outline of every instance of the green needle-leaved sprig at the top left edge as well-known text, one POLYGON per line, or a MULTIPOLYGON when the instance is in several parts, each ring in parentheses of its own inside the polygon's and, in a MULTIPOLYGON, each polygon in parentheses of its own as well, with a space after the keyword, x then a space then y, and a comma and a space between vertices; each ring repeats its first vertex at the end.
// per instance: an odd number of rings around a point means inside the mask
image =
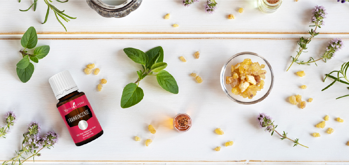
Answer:
MULTIPOLYGON (((66 1, 59 1, 59 0, 56 0, 57 2, 60 2, 60 3, 65 3, 65 2, 68 2, 68 0, 66 1)), ((19 1, 21 2, 21 1, 19 1)), ((54 7, 50 2, 52 2, 51 0, 44 0, 44 2, 46 3, 47 5, 47 12, 46 12, 46 16, 45 16, 45 21, 44 23, 46 23, 47 21, 47 18, 49 17, 49 12, 50 12, 50 9, 53 10, 54 12, 54 15, 56 16, 57 18, 57 21, 64 27, 64 29, 67 31, 66 27, 63 25, 63 23, 59 20, 58 16, 60 16, 64 21, 68 22, 70 21, 68 18, 70 19, 76 19, 76 17, 70 17, 66 14, 64 14, 64 10, 63 11, 60 11, 58 10, 56 7, 54 7), (57 16, 58 15, 58 16, 57 16), (67 18, 68 17, 68 18, 67 18)), ((34 3, 27 9, 27 10, 20 10, 20 11, 28 11, 32 6, 34 6, 34 11, 36 10, 36 4, 37 4, 37 0, 34 0, 34 3)), ((42 24, 44 24, 42 23, 42 24)))

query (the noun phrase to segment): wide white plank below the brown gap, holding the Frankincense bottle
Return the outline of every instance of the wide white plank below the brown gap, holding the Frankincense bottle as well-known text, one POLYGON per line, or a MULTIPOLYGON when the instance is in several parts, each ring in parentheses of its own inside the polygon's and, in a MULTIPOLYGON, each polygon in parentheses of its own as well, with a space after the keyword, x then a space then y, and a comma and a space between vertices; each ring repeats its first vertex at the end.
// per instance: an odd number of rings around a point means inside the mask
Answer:
MULTIPOLYGON (((322 88, 332 82, 331 79, 322 82, 324 74, 340 69, 340 65, 349 60, 348 48, 344 47, 327 63, 321 61, 318 66, 294 65, 285 72, 291 62, 290 56, 296 54, 296 41, 297 39, 39 40, 38 46, 50 45, 50 53, 38 64, 34 64, 32 78, 27 83, 22 83, 15 69, 22 57, 18 53, 21 49, 20 40, 2 39, 0 115, 14 110, 18 122, 11 127, 11 133, 6 139, 0 139, 0 160, 15 156, 14 150, 20 149, 27 124, 36 120, 42 125, 42 134, 54 130, 60 135, 55 148, 44 149, 43 155, 36 159, 49 162, 39 162, 40 164, 256 164, 251 160, 287 161, 291 164, 291 161, 348 163, 349 147, 346 143, 349 141, 349 98, 335 98, 346 95, 349 91, 346 85, 336 82, 321 92, 322 88), (122 49, 134 47, 147 51, 156 46, 164 49, 164 62, 168 63, 166 70, 176 78, 179 94, 164 91, 155 77, 148 76, 140 82, 144 99, 131 108, 120 108, 122 89, 137 79, 136 70, 141 69, 122 49), (194 58, 196 51, 200 52, 199 59, 194 58), (270 95, 253 105, 231 101, 220 85, 219 75, 223 64, 232 55, 245 51, 265 57, 275 75, 270 95), (181 62, 179 56, 184 56, 187 62, 181 62), (101 69, 98 76, 84 74, 83 69, 89 63, 95 63, 101 69), (58 101, 48 82, 51 76, 63 70, 69 70, 80 91, 86 93, 104 129, 101 137, 81 147, 74 145, 55 106, 58 101), (305 77, 295 74, 301 70, 305 71, 305 77), (202 77, 202 84, 195 82, 189 75, 192 72, 202 77), (101 78, 108 82, 101 92, 97 92, 101 78), (301 85, 307 85, 308 88, 301 89, 301 85), (307 102, 306 108, 300 109, 288 101, 290 95, 296 94, 302 95, 303 100, 312 97, 314 101, 307 102), (278 131, 288 132, 290 138, 299 138, 300 143, 310 148, 292 147, 291 141, 280 141, 278 136, 265 133, 256 121, 259 112, 272 116, 275 124, 279 125, 278 131), (177 113, 191 116, 193 126, 190 131, 179 133, 172 128, 171 119, 177 113), (316 128, 315 125, 325 115, 330 116, 326 127, 316 128), (337 117, 344 119, 344 123, 335 121, 337 117), (155 135, 147 130, 149 124, 157 130, 155 135), (335 129, 333 134, 325 133, 328 127, 335 129), (221 128, 225 134, 215 134, 216 128, 221 128), (321 137, 313 137, 314 132, 319 132, 321 137), (134 136, 141 137, 142 141, 136 142, 134 136), (146 139, 153 140, 149 147, 144 144, 146 139), (227 141, 233 141, 233 146, 224 147, 227 141), (219 152, 214 150, 218 146, 222 146, 219 152), (246 162, 230 162, 240 160, 246 162)), ((328 41, 329 39, 313 39, 308 46, 309 53, 302 54, 300 58, 307 60, 310 56, 320 57, 328 41)), ((344 39, 344 42, 348 43, 349 40, 344 39)), ((0 122, 3 124, 5 121, 1 119, 0 122)), ((278 163, 283 162, 276 162, 278 163)))

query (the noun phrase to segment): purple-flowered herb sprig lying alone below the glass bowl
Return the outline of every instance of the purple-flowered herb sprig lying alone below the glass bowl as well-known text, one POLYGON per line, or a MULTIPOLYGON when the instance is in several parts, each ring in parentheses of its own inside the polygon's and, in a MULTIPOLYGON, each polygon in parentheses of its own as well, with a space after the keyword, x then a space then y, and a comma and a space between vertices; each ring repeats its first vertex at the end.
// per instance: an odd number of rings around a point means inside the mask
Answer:
MULTIPOLYGON (((288 139, 288 140, 292 141, 294 143, 293 147, 297 146, 298 144, 300 146, 303 146, 302 144, 299 143, 299 139, 292 140, 292 139, 288 138, 287 133, 285 133, 285 131, 283 132, 282 135, 279 132, 277 132, 275 130, 277 125, 274 125, 274 121, 272 121, 272 118, 270 116, 268 116, 267 114, 259 113, 257 120, 258 120, 259 126, 261 128, 265 128, 266 132, 267 131, 272 132, 272 136, 273 136, 274 132, 276 132, 279 136, 281 136, 281 138, 280 138, 281 140, 288 139)), ((306 147, 306 146, 303 146, 303 147, 306 147)), ((309 148, 309 147, 306 147, 306 148, 309 148)))

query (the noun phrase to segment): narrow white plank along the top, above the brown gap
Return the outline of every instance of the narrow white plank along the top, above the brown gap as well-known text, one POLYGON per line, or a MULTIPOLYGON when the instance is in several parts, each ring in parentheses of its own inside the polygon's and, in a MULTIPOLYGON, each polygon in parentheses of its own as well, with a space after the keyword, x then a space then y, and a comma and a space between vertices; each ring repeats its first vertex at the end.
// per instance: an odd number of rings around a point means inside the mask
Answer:
POLYGON ((27 9, 33 1, 2 1, 0 10, 0 34, 24 33, 34 26, 41 34, 114 34, 114 33, 306 33, 311 11, 315 5, 327 9, 325 25, 320 33, 348 34, 343 23, 349 22, 349 5, 337 1, 283 1, 274 14, 264 14, 257 7, 257 1, 217 1, 216 13, 205 13, 205 1, 190 7, 182 6, 180 0, 145 0, 141 6, 124 18, 104 18, 92 10, 84 0, 67 3, 54 1, 52 4, 65 10, 69 16, 77 17, 69 23, 63 22, 68 32, 50 12, 45 24, 47 6, 38 1, 34 11, 27 9), (238 9, 244 8, 242 14, 238 9), (170 19, 164 19, 170 13, 170 19), (228 19, 233 14, 236 19, 228 19), (179 24, 174 28, 173 24, 179 24))

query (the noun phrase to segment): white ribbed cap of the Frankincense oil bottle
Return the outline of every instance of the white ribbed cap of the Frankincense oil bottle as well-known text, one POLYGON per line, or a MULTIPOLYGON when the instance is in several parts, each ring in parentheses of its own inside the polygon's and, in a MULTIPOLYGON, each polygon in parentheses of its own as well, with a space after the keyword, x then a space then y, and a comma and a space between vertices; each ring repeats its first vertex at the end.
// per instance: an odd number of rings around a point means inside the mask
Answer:
POLYGON ((72 75, 67 70, 55 74, 49 79, 49 82, 57 100, 69 93, 79 90, 72 75))

